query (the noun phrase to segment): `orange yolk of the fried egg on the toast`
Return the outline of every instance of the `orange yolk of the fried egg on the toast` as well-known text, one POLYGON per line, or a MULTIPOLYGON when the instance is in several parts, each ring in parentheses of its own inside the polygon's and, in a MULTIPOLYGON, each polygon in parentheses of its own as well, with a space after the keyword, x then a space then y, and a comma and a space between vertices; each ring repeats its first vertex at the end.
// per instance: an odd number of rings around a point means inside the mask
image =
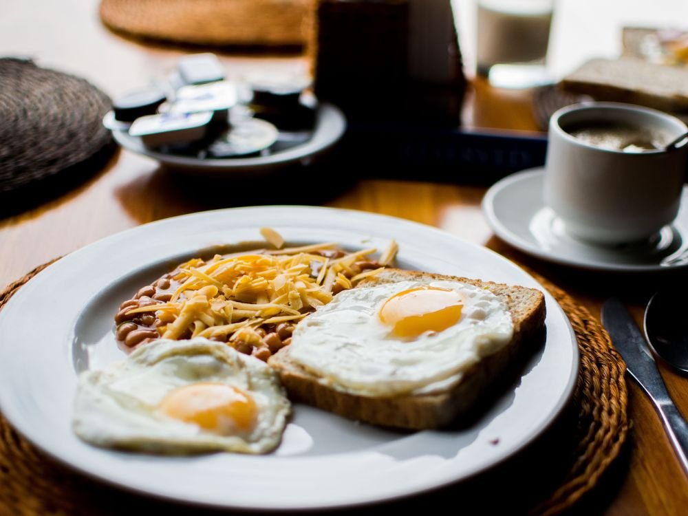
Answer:
POLYGON ((400 337, 441 332, 461 319, 463 297, 447 288, 421 287, 394 294, 380 308, 383 324, 400 337))

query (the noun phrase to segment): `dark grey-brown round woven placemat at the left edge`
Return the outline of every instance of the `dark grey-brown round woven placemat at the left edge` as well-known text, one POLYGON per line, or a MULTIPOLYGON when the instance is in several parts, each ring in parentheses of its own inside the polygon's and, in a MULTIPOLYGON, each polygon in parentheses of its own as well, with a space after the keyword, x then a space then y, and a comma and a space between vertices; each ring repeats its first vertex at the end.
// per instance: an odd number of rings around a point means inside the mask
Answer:
POLYGON ((0 215, 63 193, 116 149, 111 101, 86 80, 0 58, 0 215))

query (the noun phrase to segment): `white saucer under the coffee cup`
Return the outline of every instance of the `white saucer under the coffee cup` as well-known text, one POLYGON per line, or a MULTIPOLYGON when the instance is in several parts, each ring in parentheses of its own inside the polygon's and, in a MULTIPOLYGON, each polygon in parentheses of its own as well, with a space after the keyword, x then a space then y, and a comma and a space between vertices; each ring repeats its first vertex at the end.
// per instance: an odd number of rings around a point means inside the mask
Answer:
POLYGON ((495 183, 482 211, 495 234, 508 244, 557 264, 607 271, 652 272, 688 267, 688 189, 670 226, 640 244, 603 247, 570 237, 565 224, 542 200, 544 169, 509 175, 495 183))

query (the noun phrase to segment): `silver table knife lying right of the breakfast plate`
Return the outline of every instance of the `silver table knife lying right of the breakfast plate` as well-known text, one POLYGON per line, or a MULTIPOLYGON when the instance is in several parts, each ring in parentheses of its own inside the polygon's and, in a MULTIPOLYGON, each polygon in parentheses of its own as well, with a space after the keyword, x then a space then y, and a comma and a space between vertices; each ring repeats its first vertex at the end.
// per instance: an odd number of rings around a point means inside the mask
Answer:
POLYGON ((657 365, 647 347, 645 337, 619 299, 608 299, 602 307, 602 324, 612 337, 616 351, 626 363, 626 371, 652 400, 662 419, 669 442, 678 460, 688 473, 688 423, 674 405, 657 365))

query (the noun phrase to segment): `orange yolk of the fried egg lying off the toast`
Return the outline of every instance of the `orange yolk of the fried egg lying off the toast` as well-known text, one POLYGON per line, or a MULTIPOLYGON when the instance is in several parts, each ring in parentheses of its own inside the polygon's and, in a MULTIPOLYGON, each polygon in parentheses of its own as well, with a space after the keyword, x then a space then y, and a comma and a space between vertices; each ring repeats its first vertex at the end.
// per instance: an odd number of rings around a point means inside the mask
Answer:
POLYGON ((257 407, 251 396, 224 383, 197 383, 179 387, 160 403, 171 418, 197 424, 226 436, 246 433, 255 427, 257 407))

